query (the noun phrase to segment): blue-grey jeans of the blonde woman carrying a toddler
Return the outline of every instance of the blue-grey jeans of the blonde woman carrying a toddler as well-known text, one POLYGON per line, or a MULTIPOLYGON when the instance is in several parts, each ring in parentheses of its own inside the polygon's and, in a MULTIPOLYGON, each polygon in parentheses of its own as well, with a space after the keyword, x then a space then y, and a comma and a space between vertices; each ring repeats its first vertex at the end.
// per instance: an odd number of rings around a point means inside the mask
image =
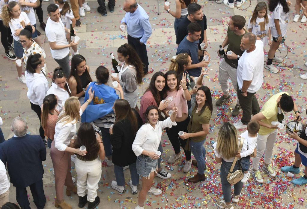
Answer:
MULTIPOLYGON (((231 185, 227 181, 227 175, 228 175, 228 172, 231 168, 231 165, 232 165, 232 162, 226 162, 226 161, 222 160, 221 183, 222 183, 222 191, 223 191, 224 200, 227 203, 230 203, 230 201, 231 201, 231 185)), ((235 164, 235 168, 233 169, 233 172, 235 172, 236 170, 239 170, 239 169, 240 169, 239 168, 239 161, 237 161, 237 163, 235 164)), ((236 183, 234 194, 239 195, 241 193, 242 187, 243 187, 243 183, 241 181, 236 183)))

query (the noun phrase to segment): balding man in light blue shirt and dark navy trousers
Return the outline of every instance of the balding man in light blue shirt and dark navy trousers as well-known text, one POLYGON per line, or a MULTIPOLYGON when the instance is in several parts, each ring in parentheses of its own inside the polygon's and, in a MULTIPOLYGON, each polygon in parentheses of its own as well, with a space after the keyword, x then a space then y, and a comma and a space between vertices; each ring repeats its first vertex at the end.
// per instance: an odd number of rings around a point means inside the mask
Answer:
MULTIPOLYGON (((151 25, 146 11, 135 0, 125 0, 126 11, 121 23, 127 26, 128 44, 132 45, 140 56, 144 66, 144 75, 148 73, 146 42, 151 36, 151 25)), ((122 29, 120 29, 122 30, 122 29)))

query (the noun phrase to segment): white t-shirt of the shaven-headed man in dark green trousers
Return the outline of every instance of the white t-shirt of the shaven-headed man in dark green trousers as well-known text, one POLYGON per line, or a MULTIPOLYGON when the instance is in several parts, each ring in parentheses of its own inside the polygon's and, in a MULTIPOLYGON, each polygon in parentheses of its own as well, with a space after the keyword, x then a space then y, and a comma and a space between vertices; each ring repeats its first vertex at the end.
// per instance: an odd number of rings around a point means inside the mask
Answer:
POLYGON ((257 92, 263 82, 263 42, 261 40, 256 41, 256 49, 252 52, 243 52, 238 61, 237 69, 237 81, 239 89, 242 89, 243 80, 251 81, 251 85, 248 87, 247 92, 257 92))

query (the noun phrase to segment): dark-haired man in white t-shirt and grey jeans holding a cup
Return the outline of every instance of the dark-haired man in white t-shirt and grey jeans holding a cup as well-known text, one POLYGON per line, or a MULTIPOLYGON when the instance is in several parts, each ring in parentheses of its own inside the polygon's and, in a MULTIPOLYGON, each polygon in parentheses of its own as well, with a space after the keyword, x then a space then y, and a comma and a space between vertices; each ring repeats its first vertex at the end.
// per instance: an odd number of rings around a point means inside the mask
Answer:
POLYGON ((64 70, 66 77, 68 77, 70 74, 69 47, 77 45, 79 41, 77 43, 72 41, 68 44, 66 33, 70 33, 70 31, 65 28, 60 19, 61 15, 58 6, 55 4, 49 4, 47 11, 49 18, 46 24, 46 36, 49 41, 51 55, 64 70))

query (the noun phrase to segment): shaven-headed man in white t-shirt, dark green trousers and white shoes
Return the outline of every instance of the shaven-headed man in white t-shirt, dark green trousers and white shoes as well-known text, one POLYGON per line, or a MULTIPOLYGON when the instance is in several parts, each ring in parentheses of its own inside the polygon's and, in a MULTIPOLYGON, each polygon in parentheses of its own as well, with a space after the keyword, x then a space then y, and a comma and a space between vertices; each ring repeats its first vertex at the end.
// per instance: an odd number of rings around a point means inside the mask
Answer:
POLYGON ((237 95, 243 114, 242 119, 234 124, 237 129, 246 128, 251 115, 260 112, 255 94, 262 86, 264 60, 263 42, 255 34, 244 34, 240 47, 245 52, 238 61, 237 95))

